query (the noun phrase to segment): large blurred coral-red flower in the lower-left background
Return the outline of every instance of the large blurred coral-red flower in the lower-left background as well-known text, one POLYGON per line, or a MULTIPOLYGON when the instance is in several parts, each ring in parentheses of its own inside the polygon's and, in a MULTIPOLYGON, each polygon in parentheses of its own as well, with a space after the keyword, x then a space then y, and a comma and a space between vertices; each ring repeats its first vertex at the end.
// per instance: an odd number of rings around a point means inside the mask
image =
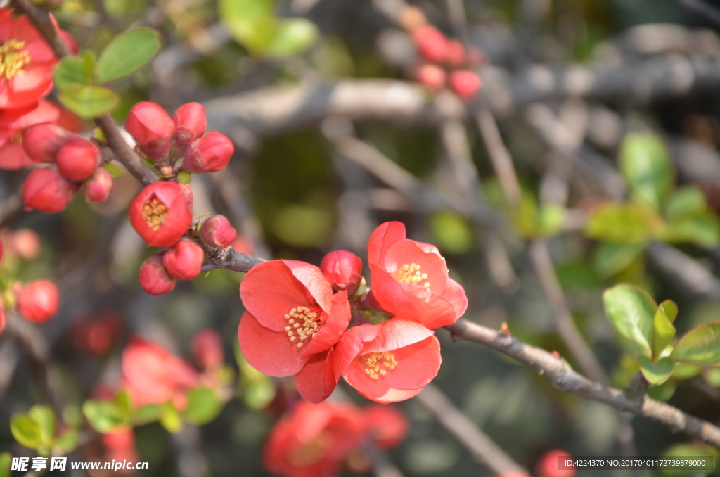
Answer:
POLYGON ((168 350, 133 338, 122 352, 124 388, 135 406, 163 404, 197 385, 198 374, 168 350))

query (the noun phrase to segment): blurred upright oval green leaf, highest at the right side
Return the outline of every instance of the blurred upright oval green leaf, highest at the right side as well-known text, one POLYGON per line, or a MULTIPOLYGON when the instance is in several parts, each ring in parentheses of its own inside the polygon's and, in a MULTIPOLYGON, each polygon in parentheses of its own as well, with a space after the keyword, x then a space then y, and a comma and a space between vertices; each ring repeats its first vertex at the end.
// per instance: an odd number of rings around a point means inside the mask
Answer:
POLYGON ((675 174, 670 152, 659 136, 652 133, 628 133, 619 150, 620 169, 632 194, 656 212, 670 192, 675 174))

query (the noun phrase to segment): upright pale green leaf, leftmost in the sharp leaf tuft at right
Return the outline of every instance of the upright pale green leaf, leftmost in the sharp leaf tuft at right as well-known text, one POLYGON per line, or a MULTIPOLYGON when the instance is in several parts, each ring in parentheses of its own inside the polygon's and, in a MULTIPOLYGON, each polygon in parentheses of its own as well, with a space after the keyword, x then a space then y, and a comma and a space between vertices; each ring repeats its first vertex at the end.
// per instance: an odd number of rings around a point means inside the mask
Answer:
POLYGON ((621 284, 603 293, 605 311, 611 323, 633 352, 651 356, 652 325, 657 305, 645 290, 621 284))

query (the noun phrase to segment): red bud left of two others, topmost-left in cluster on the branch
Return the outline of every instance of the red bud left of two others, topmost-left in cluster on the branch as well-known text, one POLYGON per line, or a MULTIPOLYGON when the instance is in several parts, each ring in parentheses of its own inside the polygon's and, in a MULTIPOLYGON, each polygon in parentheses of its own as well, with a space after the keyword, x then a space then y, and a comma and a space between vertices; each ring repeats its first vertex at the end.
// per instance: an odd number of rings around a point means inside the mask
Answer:
POLYGON ((125 130, 138 141, 140 152, 153 161, 163 161, 170 151, 175 123, 158 104, 143 101, 127 113, 125 130))

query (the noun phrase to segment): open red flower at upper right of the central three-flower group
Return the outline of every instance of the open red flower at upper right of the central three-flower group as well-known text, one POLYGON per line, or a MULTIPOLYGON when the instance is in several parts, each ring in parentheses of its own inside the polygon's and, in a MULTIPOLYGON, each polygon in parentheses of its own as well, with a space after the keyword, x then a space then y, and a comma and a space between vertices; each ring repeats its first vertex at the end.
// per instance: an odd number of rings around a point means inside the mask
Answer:
POLYGON ((436 246, 405 239, 405 226, 386 222, 367 244, 372 295, 385 311, 428 328, 454 324, 467 310, 465 290, 448 277, 436 246))

